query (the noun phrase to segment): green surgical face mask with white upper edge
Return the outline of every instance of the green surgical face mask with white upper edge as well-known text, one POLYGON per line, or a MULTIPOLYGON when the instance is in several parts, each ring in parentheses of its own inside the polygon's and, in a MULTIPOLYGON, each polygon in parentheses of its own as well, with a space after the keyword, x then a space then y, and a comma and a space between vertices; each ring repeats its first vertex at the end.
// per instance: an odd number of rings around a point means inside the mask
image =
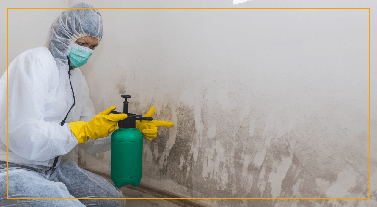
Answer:
POLYGON ((87 47, 73 44, 68 55, 70 59, 69 66, 77 68, 84 65, 90 58, 90 55, 92 55, 93 51, 94 50, 87 47))

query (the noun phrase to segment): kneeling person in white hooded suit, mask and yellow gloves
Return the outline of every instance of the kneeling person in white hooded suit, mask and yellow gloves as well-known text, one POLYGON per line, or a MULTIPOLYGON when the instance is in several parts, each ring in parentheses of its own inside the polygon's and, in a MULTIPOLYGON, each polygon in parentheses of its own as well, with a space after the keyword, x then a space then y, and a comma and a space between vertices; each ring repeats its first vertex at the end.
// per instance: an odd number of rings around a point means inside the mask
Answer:
MULTIPOLYGON (((86 9, 63 11, 51 26, 49 49, 38 47, 21 53, 0 79, 2 207, 125 205, 125 199, 7 199, 7 184, 9 198, 124 198, 111 181, 62 156, 76 145, 90 153, 109 151, 111 132, 118 120, 127 117, 110 114, 115 107, 95 116, 78 67, 87 62, 101 41, 102 17, 87 3, 72 8, 86 9)), ((147 116, 153 113, 152 107, 147 116)), ((136 128, 152 140, 157 126, 173 123, 143 121, 136 128)))

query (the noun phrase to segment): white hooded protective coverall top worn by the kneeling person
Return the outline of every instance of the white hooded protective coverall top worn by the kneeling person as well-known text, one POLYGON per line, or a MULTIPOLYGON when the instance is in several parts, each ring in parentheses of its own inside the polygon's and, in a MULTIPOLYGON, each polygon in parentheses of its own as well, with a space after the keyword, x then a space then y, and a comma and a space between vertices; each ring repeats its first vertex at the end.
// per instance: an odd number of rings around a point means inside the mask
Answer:
MULTIPOLYGON (((93 7, 86 3, 76 6, 93 7)), ((84 36, 100 43, 100 13, 95 8, 67 9, 52 24, 49 49, 27 50, 11 62, 0 79, 0 160, 7 161, 7 126, 11 163, 56 167, 60 155, 78 144, 68 123, 89 121, 95 111, 85 78, 79 68, 69 72, 67 55, 72 44, 84 36)), ((89 139, 79 146, 90 153, 109 151, 110 136, 89 139)))

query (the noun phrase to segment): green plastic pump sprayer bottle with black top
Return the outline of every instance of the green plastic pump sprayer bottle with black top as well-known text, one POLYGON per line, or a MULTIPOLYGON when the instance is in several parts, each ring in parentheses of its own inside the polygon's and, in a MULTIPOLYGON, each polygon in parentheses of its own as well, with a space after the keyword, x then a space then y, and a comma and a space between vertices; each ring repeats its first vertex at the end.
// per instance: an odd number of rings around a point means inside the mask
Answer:
MULTIPOLYGON (((118 121, 119 129, 111 135, 111 180, 116 187, 131 184, 138 186, 141 180, 141 165, 143 160, 143 135, 136 127, 136 120, 152 120, 151 117, 143 117, 128 113, 127 98, 122 95, 123 113, 127 118, 118 121)), ((112 111, 113 114, 120 114, 112 111)))

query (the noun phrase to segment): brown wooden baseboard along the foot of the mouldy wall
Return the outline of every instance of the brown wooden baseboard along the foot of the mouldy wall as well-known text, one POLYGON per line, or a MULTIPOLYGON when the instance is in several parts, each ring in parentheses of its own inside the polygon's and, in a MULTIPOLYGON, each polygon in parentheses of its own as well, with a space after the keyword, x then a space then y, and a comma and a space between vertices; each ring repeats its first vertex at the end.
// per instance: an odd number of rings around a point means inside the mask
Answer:
MULTIPOLYGON (((79 167, 88 170, 89 172, 92 172, 94 174, 100 175, 101 177, 104 177, 106 179, 111 179, 110 174, 108 172, 100 172, 98 170, 92 169, 90 167, 85 167, 79 165, 79 167)), ((211 205, 204 204, 195 200, 189 200, 185 199, 185 197, 177 195, 175 193, 161 190, 156 187, 148 186, 146 184, 140 183, 138 186, 133 187, 131 185, 125 185, 124 187, 127 187, 129 189, 138 190, 143 193, 147 193, 149 195, 155 196, 157 198, 176 198, 176 199, 167 199, 166 201, 172 202, 176 205, 180 205, 182 207, 212 207, 211 205), (183 199, 182 199, 183 198, 183 199)))

